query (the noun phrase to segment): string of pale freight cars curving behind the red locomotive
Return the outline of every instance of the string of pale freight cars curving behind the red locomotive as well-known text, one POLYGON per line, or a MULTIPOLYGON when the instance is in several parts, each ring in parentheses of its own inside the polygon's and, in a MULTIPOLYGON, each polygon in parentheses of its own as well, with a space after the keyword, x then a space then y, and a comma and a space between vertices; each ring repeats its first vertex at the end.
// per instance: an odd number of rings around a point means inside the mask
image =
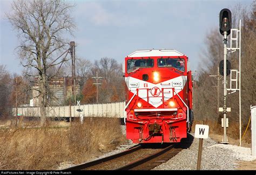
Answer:
MULTIPOLYGON (((102 116, 102 117, 120 117, 124 116, 125 102, 102 103, 102 104, 84 104, 71 106, 71 116, 102 116), (78 112, 77 109, 83 109, 78 112)), ((40 117, 39 107, 18 107, 18 114, 25 117, 40 117)), ((16 108, 12 108, 12 114, 16 115, 16 108)), ((69 106, 46 107, 46 117, 70 117, 69 106)))

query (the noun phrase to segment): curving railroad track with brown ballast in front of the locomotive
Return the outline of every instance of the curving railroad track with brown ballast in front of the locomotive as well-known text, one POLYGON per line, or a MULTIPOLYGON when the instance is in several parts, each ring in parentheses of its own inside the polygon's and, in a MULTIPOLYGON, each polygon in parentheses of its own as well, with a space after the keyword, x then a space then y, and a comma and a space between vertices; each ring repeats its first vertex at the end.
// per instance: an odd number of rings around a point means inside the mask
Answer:
POLYGON ((184 148, 188 148, 193 141, 189 135, 183 143, 175 144, 154 144, 147 147, 137 145, 133 148, 117 153, 109 157, 93 160, 75 166, 71 166, 63 171, 68 170, 151 170, 171 159, 184 148), (157 147, 157 148, 156 148, 157 147))

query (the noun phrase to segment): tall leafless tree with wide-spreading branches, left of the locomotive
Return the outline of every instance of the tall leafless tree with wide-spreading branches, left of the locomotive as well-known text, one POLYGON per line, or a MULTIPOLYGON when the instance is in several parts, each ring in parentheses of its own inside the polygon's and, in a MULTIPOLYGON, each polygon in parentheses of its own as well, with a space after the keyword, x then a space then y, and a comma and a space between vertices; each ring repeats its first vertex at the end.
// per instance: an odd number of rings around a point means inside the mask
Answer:
MULTIPOLYGON (((69 44, 65 33, 74 29, 70 9, 73 5, 60 0, 18 0, 12 3, 12 12, 6 14, 9 22, 18 31, 21 41, 18 53, 26 70, 37 70, 38 97, 41 108, 41 125, 45 123, 46 106, 50 89, 48 71, 53 66, 62 65, 66 58, 58 54, 67 50, 69 44)), ((27 76, 30 75, 26 72, 27 76)))

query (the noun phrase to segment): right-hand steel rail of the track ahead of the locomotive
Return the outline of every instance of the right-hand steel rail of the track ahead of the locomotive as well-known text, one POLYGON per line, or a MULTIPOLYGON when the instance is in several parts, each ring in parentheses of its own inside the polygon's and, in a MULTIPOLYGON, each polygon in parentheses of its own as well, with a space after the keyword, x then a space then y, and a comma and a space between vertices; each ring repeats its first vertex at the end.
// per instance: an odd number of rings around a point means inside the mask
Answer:
POLYGON ((132 168, 134 168, 134 167, 136 167, 136 166, 139 166, 139 165, 141 165, 141 164, 143 164, 143 163, 145 163, 145 162, 149 162, 149 161, 152 160, 153 158, 156 158, 156 157, 162 155, 163 153, 165 153, 166 151, 169 151, 170 149, 174 148, 174 145, 175 145, 175 144, 172 144, 172 145, 168 146, 167 148, 165 148, 165 149, 163 149, 163 150, 160 150, 160 151, 158 151, 158 152, 156 152, 156 153, 153 153, 153 154, 150 155, 150 156, 144 157, 144 158, 139 159, 139 160, 137 160, 137 161, 135 161, 135 162, 132 162, 132 163, 130 163, 130 164, 127 164, 127 165, 124 165, 124 166, 122 166, 122 167, 119 167, 119 168, 116 169, 116 170, 130 170, 130 169, 132 169, 132 168))

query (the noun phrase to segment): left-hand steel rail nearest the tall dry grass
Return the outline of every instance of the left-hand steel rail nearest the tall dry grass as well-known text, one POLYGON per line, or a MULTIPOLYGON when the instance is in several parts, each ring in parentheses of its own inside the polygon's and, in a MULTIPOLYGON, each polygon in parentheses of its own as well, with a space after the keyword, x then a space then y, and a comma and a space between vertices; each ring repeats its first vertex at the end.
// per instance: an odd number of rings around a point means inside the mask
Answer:
POLYGON ((107 157, 104 157, 104 158, 100 158, 100 159, 97 159, 97 160, 93 160, 91 162, 87 162, 87 163, 83 163, 83 164, 79 164, 79 165, 75 165, 75 166, 71 166, 71 167, 68 167, 66 169, 62 169, 63 171, 67 171, 67 170, 83 170, 83 169, 86 169, 87 167, 90 167, 90 166, 94 166, 94 165, 98 165, 98 164, 101 164, 101 163, 104 163, 104 162, 107 162, 109 160, 112 160, 112 159, 115 159, 115 158, 118 158, 118 157, 122 157, 124 155, 127 155, 129 153, 132 153, 134 151, 137 151, 139 149, 141 149, 142 146, 141 145, 136 145, 136 146, 132 146, 132 148, 128 149, 128 150, 125 150, 123 152, 119 152, 115 155, 112 155, 112 156, 107 156, 107 157))

